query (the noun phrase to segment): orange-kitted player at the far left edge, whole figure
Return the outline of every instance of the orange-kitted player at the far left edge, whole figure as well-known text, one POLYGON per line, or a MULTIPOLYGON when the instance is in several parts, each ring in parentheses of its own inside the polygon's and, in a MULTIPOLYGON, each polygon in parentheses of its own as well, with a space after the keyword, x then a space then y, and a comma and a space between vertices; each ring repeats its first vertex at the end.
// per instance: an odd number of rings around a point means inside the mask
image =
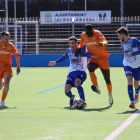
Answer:
POLYGON ((10 34, 7 31, 1 32, 0 40, 0 87, 2 87, 2 80, 4 78, 4 88, 1 98, 1 106, 5 106, 4 101, 7 97, 9 91, 9 83, 11 80, 12 74, 12 61, 11 53, 16 57, 17 62, 17 75, 20 73, 20 58, 19 53, 15 46, 9 42, 10 34))

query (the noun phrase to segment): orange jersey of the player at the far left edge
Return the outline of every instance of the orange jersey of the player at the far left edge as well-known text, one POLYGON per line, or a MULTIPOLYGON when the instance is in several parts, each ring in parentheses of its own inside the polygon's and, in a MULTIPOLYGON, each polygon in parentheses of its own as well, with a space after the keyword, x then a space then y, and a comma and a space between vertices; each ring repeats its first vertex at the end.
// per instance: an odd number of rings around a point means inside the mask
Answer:
POLYGON ((0 67, 11 66, 11 53, 15 57, 19 56, 19 52, 12 43, 9 42, 7 45, 3 45, 0 40, 0 67))

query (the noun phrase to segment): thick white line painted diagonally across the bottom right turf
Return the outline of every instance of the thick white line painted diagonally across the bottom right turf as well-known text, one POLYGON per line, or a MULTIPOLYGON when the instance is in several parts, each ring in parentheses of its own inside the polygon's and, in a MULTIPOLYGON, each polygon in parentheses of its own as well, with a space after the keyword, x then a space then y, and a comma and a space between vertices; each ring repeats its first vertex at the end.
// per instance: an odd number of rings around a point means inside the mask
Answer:
POLYGON ((113 140, 116 138, 131 122, 138 117, 140 114, 140 108, 133 113, 120 127, 118 127, 114 132, 112 132, 106 139, 104 140, 113 140))

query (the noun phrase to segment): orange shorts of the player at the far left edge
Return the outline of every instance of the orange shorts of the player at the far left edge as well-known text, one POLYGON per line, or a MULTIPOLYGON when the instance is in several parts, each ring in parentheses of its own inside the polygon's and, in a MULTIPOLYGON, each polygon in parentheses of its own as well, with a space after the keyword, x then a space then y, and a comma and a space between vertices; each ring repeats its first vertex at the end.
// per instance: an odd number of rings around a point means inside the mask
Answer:
POLYGON ((4 76, 10 75, 11 78, 13 77, 13 72, 11 67, 1 67, 0 68, 0 79, 4 76))

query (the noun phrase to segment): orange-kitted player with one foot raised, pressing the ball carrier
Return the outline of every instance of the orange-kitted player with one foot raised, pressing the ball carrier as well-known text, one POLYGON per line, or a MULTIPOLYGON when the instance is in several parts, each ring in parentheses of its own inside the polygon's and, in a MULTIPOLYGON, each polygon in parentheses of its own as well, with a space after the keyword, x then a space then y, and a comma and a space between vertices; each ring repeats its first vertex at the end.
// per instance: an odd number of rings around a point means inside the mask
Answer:
MULTIPOLYGON (((99 31, 93 29, 91 24, 87 24, 85 26, 85 32, 81 34, 81 41, 80 41, 80 48, 86 45, 86 49, 89 53, 97 58, 90 58, 88 63, 88 70, 92 82, 91 89, 98 94, 101 93, 97 83, 97 77, 95 75, 95 70, 100 68, 105 82, 108 89, 109 95, 109 104, 113 104, 113 97, 112 97, 112 84, 110 81, 110 68, 109 68, 109 61, 108 57, 110 54, 106 52, 105 46, 108 45, 104 35, 99 31)), ((78 56, 79 52, 77 50, 76 56, 78 56)))

